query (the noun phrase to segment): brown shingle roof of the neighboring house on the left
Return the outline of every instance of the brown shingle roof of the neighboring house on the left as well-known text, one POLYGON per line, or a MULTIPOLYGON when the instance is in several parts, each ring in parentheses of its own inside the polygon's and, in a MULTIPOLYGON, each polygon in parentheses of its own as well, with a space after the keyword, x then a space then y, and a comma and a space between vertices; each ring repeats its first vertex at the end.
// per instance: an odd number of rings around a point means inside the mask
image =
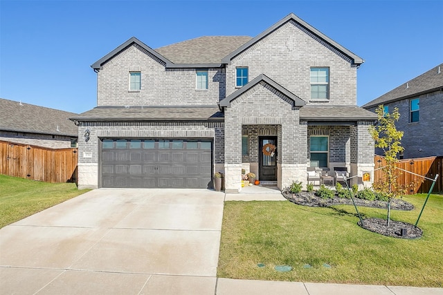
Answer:
POLYGON ((78 137, 78 127, 69 120, 73 115, 77 114, 0 98, 1 131, 78 137))

